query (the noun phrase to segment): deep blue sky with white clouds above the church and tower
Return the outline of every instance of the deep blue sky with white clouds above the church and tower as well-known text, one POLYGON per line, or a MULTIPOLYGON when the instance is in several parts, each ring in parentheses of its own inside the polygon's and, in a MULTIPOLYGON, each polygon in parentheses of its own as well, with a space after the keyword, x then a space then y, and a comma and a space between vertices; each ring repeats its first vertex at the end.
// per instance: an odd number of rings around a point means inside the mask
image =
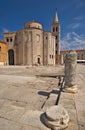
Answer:
POLYGON ((55 12, 61 50, 85 49, 85 0, 0 0, 0 40, 4 32, 24 28, 26 21, 38 21, 51 31, 55 12))

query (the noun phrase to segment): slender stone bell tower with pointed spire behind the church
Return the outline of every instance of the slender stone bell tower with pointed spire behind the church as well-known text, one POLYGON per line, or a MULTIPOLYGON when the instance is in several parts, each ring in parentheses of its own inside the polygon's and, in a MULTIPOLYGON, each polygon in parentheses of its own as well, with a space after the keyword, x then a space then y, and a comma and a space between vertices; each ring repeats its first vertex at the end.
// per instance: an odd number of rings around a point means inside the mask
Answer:
POLYGON ((55 13, 52 27, 51 27, 53 35, 56 37, 55 51, 56 51, 56 62, 59 62, 60 57, 60 23, 58 20, 58 15, 55 13))

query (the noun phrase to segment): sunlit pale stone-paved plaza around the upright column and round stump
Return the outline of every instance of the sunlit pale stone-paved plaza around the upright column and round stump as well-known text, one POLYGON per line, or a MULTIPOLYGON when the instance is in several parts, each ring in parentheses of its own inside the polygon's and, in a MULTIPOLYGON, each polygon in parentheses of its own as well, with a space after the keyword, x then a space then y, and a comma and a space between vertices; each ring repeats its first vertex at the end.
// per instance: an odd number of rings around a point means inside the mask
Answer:
POLYGON ((50 130, 43 113, 62 105, 70 116, 67 130, 85 130, 85 65, 77 65, 78 93, 60 91, 64 66, 0 66, 0 130, 50 130))

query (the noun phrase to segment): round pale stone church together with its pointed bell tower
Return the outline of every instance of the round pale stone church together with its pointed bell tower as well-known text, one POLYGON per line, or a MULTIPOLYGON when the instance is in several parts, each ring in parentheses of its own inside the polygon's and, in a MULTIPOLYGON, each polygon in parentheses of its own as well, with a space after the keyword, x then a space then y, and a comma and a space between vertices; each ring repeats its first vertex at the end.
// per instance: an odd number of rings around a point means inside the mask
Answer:
POLYGON ((52 23, 52 32, 44 31, 39 22, 26 22, 24 29, 4 33, 4 41, 7 44, 9 65, 55 65, 60 55, 57 14, 52 23))

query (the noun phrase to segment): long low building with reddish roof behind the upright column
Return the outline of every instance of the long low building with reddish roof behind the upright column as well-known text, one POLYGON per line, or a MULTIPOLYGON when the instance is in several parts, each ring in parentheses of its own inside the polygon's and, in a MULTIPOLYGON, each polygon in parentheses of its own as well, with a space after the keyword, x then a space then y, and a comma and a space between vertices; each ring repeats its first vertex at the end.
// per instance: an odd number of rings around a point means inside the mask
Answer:
MULTIPOLYGON (((68 52, 71 50, 61 50, 61 59, 63 58, 63 61, 65 61, 65 56, 68 52)), ((85 60, 85 49, 82 50, 75 50, 77 53, 77 60, 85 60)))

